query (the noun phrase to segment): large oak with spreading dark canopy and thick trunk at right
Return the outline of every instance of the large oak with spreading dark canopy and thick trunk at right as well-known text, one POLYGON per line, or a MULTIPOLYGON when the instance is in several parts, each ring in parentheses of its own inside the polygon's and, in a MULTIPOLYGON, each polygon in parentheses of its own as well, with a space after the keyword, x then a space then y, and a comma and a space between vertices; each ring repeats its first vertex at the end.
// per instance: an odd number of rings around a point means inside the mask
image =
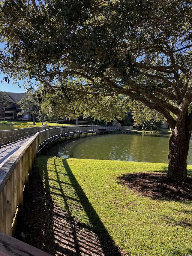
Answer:
POLYGON ((167 177, 184 180, 192 130, 191 11, 191 1, 180 0, 4 0, 1 70, 64 97, 122 94, 158 111, 173 129, 167 177), (76 77, 79 85, 66 86, 76 77))

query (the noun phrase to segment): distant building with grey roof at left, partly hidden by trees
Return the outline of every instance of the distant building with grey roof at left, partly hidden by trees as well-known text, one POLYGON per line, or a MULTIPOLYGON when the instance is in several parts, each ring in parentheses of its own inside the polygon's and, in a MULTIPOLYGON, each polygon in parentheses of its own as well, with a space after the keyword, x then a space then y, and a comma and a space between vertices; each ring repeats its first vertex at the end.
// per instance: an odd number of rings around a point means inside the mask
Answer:
POLYGON ((10 98, 10 106, 1 104, 0 119, 12 119, 12 120, 31 120, 31 113, 23 113, 19 116, 17 114, 21 112, 21 108, 18 102, 22 98, 26 98, 26 93, 7 92, 10 98))

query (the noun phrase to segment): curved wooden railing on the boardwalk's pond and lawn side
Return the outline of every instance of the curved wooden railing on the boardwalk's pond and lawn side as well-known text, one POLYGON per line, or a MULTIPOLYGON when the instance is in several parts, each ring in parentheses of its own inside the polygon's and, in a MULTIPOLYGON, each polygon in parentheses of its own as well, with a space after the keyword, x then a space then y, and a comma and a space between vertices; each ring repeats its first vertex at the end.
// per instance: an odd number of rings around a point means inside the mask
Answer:
POLYGON ((22 216, 23 196, 38 152, 54 139, 81 133, 127 130, 132 127, 63 126, 37 132, 0 165, 0 231, 12 235, 17 216, 22 216))

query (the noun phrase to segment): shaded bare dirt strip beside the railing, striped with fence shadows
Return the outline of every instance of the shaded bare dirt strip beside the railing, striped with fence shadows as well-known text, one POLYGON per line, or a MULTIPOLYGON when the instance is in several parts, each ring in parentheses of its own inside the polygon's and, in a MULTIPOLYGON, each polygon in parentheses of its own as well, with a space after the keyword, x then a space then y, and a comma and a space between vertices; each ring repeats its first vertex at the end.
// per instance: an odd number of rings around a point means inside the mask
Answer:
POLYGON ((111 237, 101 237, 53 203, 36 166, 15 237, 51 255, 126 255, 114 245, 111 237))

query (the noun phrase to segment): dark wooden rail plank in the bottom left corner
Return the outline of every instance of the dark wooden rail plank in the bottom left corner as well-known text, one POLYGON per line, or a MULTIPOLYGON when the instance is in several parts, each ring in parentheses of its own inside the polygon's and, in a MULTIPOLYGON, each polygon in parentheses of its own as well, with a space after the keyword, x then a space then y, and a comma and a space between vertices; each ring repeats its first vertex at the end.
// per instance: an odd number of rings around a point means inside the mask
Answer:
POLYGON ((0 255, 3 256, 50 256, 31 245, 0 232, 0 255))

